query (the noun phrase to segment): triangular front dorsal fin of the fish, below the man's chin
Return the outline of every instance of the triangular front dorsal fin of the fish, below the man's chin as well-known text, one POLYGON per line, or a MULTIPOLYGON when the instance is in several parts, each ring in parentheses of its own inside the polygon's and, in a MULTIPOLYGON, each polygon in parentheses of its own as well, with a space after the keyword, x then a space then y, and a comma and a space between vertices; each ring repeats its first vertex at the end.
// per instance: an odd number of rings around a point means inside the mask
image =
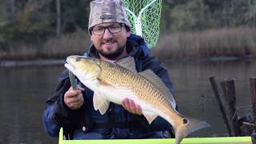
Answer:
POLYGON ((115 62, 118 66, 122 66, 134 73, 137 73, 136 64, 133 57, 126 57, 115 62))

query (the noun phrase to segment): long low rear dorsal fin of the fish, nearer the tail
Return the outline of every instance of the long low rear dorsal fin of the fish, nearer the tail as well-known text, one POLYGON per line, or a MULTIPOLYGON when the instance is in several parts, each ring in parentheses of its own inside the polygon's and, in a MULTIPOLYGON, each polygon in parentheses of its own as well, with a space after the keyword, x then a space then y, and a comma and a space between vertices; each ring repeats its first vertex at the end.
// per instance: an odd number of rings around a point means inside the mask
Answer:
POLYGON ((154 86, 158 88, 162 92, 163 95, 170 98, 171 106, 175 109, 176 102, 174 100, 173 94, 170 93, 165 83, 162 82, 162 79, 158 77, 157 74, 154 74, 152 70, 144 70, 138 73, 143 78, 146 78, 148 81, 152 82, 154 86))

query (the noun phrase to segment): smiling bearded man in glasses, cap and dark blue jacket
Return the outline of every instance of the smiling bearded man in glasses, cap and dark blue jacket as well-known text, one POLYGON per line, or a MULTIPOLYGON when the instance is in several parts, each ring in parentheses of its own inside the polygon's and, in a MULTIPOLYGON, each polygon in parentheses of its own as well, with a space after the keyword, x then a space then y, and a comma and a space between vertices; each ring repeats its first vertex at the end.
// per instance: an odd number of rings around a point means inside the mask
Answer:
MULTIPOLYGON (((173 93, 167 70, 156 58, 150 57, 148 47, 138 35, 130 33, 130 22, 121 0, 90 2, 89 33, 92 45, 89 57, 115 62, 131 56, 136 69, 153 70, 173 93)), ((138 103, 126 98, 122 106, 111 103, 106 114, 94 110, 93 91, 78 82, 80 88, 70 86, 68 72, 59 77, 54 96, 47 100, 43 113, 46 132, 58 136, 60 127, 71 139, 102 138, 166 138, 171 126, 163 118, 150 125, 142 115, 138 103)))

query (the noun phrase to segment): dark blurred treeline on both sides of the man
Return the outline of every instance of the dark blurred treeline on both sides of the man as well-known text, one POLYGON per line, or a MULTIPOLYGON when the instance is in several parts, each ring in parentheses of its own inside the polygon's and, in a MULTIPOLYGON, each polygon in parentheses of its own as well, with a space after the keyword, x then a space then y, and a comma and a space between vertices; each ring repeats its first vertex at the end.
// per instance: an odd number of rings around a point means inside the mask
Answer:
MULTIPOLYGON (((86 32, 89 6, 90 0, 1 0, 0 55, 22 43, 86 32)), ((256 0, 162 0, 165 32, 255 26, 256 0)))

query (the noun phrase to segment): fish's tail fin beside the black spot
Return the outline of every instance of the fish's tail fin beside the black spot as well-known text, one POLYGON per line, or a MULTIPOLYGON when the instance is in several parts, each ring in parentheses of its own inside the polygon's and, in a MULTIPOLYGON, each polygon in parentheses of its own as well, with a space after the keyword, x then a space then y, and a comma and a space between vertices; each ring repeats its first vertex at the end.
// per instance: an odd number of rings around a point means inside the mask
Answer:
POLYGON ((182 125, 174 127, 175 143, 179 144, 182 142, 182 138, 186 137, 188 134, 209 126, 207 122, 199 121, 198 119, 182 118, 182 125))

